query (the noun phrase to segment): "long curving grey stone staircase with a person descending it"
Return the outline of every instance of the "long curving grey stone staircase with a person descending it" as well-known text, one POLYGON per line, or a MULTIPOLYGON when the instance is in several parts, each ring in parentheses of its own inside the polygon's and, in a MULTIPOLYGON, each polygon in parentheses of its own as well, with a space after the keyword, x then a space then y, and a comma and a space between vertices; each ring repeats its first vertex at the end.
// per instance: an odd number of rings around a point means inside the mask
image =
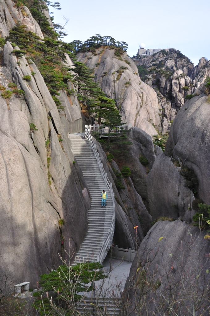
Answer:
POLYGON ((91 144, 90 135, 90 139, 82 133, 69 134, 69 138, 75 160, 83 172, 91 195, 91 207, 88 210, 88 232, 77 252, 74 264, 85 261, 102 263, 111 246, 114 234, 114 206, 110 192, 112 186, 110 187, 110 182, 104 176, 105 173, 102 173, 103 166, 100 165, 99 155, 96 155, 96 148, 91 144), (101 206, 102 190, 108 194, 106 207, 101 206))

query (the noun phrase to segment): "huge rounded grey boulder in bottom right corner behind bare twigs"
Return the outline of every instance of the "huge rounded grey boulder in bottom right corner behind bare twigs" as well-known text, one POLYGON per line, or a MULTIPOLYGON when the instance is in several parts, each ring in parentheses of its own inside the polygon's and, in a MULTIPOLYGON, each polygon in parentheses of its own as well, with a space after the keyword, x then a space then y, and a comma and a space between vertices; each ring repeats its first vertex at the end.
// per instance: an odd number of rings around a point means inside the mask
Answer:
POLYGON ((129 315, 208 315, 209 241, 181 221, 159 221, 147 233, 125 286, 129 315), (204 289, 204 291, 203 291, 204 289), (178 307, 178 308, 177 308, 178 307))

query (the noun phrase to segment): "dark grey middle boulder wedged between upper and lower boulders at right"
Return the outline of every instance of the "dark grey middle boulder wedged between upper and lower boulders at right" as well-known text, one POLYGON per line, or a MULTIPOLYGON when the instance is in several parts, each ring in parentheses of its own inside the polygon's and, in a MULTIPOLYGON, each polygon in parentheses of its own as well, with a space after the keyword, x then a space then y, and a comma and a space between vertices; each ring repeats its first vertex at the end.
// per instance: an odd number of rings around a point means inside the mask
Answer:
POLYGON ((148 199, 152 219, 166 216, 192 221, 195 211, 192 202, 193 192, 185 186, 185 179, 180 175, 171 158, 164 153, 159 155, 147 177, 148 199))

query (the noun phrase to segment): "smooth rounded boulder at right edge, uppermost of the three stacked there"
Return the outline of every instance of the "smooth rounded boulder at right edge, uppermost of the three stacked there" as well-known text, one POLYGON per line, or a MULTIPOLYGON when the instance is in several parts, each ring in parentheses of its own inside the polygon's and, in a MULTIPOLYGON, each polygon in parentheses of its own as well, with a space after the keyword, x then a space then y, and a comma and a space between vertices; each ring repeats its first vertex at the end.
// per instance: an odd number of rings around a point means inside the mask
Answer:
POLYGON ((165 154, 180 159, 192 169, 198 179, 198 194, 210 204, 209 168, 210 107, 207 96, 201 94, 188 100, 174 120, 165 154))

